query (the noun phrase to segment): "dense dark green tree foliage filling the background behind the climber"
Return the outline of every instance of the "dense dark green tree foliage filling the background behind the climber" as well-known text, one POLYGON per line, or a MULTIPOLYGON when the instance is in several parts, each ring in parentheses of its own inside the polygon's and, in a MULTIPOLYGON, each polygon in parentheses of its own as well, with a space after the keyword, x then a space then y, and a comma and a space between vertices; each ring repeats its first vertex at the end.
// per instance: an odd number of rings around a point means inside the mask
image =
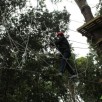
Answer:
POLYGON ((37 7, 27 3, 0 2, 0 102, 101 102, 102 60, 92 47, 86 57, 72 53, 71 65, 79 76, 76 83, 67 72, 56 77, 59 57, 50 48, 50 39, 58 31, 67 35, 66 8, 50 12, 44 0, 37 7))

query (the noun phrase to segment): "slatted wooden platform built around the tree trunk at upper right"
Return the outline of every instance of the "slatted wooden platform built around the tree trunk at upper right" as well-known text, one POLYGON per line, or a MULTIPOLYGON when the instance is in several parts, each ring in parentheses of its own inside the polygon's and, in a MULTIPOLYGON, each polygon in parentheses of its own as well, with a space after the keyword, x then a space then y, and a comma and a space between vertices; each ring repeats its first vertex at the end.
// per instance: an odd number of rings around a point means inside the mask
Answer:
POLYGON ((77 29, 83 36, 90 36, 97 29, 102 29, 102 16, 95 17, 77 29))

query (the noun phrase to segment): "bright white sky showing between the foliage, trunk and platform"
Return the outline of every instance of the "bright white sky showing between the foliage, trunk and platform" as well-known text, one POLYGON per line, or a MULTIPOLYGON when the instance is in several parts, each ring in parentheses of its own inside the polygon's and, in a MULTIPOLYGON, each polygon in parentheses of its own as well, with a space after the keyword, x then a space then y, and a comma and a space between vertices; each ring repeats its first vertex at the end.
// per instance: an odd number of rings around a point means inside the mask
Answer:
MULTIPOLYGON (((82 36, 80 33, 76 31, 77 28, 82 26, 84 24, 84 17, 80 12, 80 9, 78 8, 77 4, 74 2, 74 0, 62 0, 63 2, 52 4, 51 0, 46 0, 47 7, 50 11, 57 9, 57 10, 63 10, 64 6, 68 10, 68 12, 71 14, 70 16, 70 25, 69 25, 69 32, 70 35, 69 39, 70 43, 72 44, 72 47, 74 48, 74 53, 77 55, 77 57, 86 56, 89 52, 88 44, 87 44, 87 38, 82 36), (76 41, 76 42, 73 42, 76 41), (85 44, 81 44, 81 43, 85 44), (86 48, 86 49, 82 49, 86 48)), ((89 6, 91 7, 93 15, 96 13, 96 5, 99 2, 99 0, 87 0, 89 6)), ((31 0, 31 4, 35 5, 35 1, 31 0)))

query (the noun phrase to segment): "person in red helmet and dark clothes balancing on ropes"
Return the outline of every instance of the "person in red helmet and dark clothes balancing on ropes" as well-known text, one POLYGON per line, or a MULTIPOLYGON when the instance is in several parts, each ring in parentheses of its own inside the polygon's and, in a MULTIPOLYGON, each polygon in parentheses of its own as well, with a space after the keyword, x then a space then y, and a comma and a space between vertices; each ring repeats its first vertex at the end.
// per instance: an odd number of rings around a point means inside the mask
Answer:
POLYGON ((57 32, 57 39, 55 39, 54 43, 56 45, 56 48, 59 50, 61 54, 61 62, 60 62, 60 72, 58 75, 62 76, 65 69, 68 70, 68 72, 71 75, 71 78, 76 77, 76 73, 69 64, 69 59, 71 57, 71 48, 69 45, 68 40, 65 38, 63 32, 57 32))

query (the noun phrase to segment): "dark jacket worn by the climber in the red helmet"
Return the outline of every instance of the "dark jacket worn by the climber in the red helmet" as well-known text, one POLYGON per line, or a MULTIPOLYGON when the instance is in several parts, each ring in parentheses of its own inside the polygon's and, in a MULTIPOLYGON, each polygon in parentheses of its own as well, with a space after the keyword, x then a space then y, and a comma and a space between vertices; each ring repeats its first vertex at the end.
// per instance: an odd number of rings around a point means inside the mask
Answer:
POLYGON ((63 54, 64 52, 69 53, 69 57, 71 56, 70 45, 67 39, 62 36, 59 39, 55 40, 55 45, 57 49, 63 54))

